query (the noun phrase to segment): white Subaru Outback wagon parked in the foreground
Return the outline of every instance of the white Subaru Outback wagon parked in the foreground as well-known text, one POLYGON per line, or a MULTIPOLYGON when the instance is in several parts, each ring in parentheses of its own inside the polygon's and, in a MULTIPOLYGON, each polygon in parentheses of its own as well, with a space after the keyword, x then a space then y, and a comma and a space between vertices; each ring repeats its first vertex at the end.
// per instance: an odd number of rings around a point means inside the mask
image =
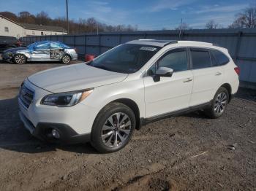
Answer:
POLYGON ((20 119, 39 139, 115 152, 152 120, 197 109, 222 116, 238 74, 227 49, 210 43, 134 40, 25 79, 20 119))

